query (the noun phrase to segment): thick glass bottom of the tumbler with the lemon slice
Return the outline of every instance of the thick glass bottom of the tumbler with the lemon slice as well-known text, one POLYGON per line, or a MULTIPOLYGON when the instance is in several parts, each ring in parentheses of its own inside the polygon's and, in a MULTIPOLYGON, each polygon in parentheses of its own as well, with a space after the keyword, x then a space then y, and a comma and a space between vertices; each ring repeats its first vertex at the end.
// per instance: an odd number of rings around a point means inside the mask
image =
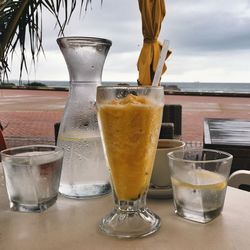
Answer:
POLYGON ((221 214, 222 208, 217 208, 215 210, 211 211, 204 211, 204 212, 199 212, 199 211, 192 211, 190 209, 186 209, 183 207, 180 207, 178 205, 175 205, 175 213, 184 219, 199 222, 199 223, 208 223, 211 220, 215 219, 221 214))

